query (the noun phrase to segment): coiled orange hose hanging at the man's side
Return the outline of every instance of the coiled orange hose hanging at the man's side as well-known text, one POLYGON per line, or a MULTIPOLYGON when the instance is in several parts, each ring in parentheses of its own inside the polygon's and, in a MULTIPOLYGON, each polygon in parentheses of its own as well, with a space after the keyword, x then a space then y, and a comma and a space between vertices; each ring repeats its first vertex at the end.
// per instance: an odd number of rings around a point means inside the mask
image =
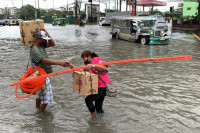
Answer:
MULTIPOLYGON (((39 71, 40 75, 45 75, 46 72, 44 71, 44 69, 42 69, 41 67, 36 66, 37 70, 39 71)), ((27 68, 26 72, 24 73, 24 75, 20 78, 19 81, 25 81, 31 74, 34 73, 33 68, 30 66, 29 68, 27 68)), ((38 91, 42 88, 43 84, 45 82, 45 78, 38 78, 35 80, 31 80, 31 81, 26 81, 20 84, 21 89, 25 92, 28 92, 29 94, 24 96, 24 97, 20 97, 17 95, 17 89, 18 89, 18 85, 15 88, 15 96, 19 99, 24 99, 29 97, 30 95, 32 95, 35 91, 38 91)))

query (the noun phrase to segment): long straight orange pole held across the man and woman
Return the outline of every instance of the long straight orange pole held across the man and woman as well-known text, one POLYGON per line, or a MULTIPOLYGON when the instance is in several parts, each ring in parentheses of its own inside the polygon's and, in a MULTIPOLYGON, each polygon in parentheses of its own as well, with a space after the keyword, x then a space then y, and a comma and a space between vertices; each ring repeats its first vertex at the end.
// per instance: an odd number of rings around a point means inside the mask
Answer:
MULTIPOLYGON (((130 63, 130 62, 146 62, 146 61, 184 60, 184 59, 191 59, 191 56, 187 55, 187 56, 164 57, 164 58, 144 58, 144 59, 119 60, 119 61, 111 61, 111 62, 100 63, 98 65, 112 65, 112 64, 130 63)), ((35 77, 35 78, 24 79, 24 80, 21 79, 17 82, 11 83, 10 86, 17 85, 16 86, 16 88, 17 88, 19 84, 21 84, 21 85, 24 84, 24 83, 29 84, 29 83, 32 83, 32 82, 34 82, 36 84, 40 80, 42 80, 42 79, 44 80, 46 77, 64 74, 64 73, 77 71, 77 70, 82 70, 82 69, 85 69, 85 68, 86 68, 86 66, 76 67, 76 68, 73 68, 73 69, 67 69, 67 70, 58 71, 58 72, 54 72, 54 73, 50 73, 50 74, 42 74, 41 76, 35 77)), ((33 90, 26 97, 32 95, 33 92, 36 91, 38 88, 39 87, 36 87, 35 90, 33 90)), ((16 95, 16 93, 17 93, 17 89, 15 89, 15 95, 16 95)), ((18 97, 17 95, 16 95, 16 97, 20 98, 20 99, 26 98, 26 97, 18 97)))

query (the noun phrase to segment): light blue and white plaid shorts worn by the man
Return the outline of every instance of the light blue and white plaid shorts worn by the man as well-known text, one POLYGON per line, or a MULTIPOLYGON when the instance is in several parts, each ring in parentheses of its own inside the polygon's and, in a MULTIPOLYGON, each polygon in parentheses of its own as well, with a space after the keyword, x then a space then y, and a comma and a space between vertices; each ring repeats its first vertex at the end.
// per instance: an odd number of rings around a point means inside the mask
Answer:
POLYGON ((41 100, 41 104, 48 104, 53 102, 53 92, 51 88, 50 78, 46 78, 46 89, 43 89, 37 96, 36 99, 41 100))

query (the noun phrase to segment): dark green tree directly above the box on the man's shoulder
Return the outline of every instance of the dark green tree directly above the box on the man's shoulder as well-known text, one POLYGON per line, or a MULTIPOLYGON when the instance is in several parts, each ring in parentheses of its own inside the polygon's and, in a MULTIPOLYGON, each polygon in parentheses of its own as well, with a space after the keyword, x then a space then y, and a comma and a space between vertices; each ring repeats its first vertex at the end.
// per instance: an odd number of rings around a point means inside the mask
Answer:
POLYGON ((24 5, 19 9, 19 17, 21 19, 34 19, 35 18, 35 8, 31 5, 24 5))

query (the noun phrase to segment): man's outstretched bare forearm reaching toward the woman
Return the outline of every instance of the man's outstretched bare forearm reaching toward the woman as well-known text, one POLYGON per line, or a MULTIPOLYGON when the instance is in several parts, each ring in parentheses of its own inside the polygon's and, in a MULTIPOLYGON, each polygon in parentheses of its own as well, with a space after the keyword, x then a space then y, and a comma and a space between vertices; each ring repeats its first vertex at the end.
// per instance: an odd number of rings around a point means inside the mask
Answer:
POLYGON ((69 61, 55 61, 55 60, 51 60, 48 58, 43 58, 42 60, 40 60, 41 63, 43 64, 49 64, 49 65, 60 65, 63 67, 70 67, 73 68, 73 65, 71 62, 69 61))

